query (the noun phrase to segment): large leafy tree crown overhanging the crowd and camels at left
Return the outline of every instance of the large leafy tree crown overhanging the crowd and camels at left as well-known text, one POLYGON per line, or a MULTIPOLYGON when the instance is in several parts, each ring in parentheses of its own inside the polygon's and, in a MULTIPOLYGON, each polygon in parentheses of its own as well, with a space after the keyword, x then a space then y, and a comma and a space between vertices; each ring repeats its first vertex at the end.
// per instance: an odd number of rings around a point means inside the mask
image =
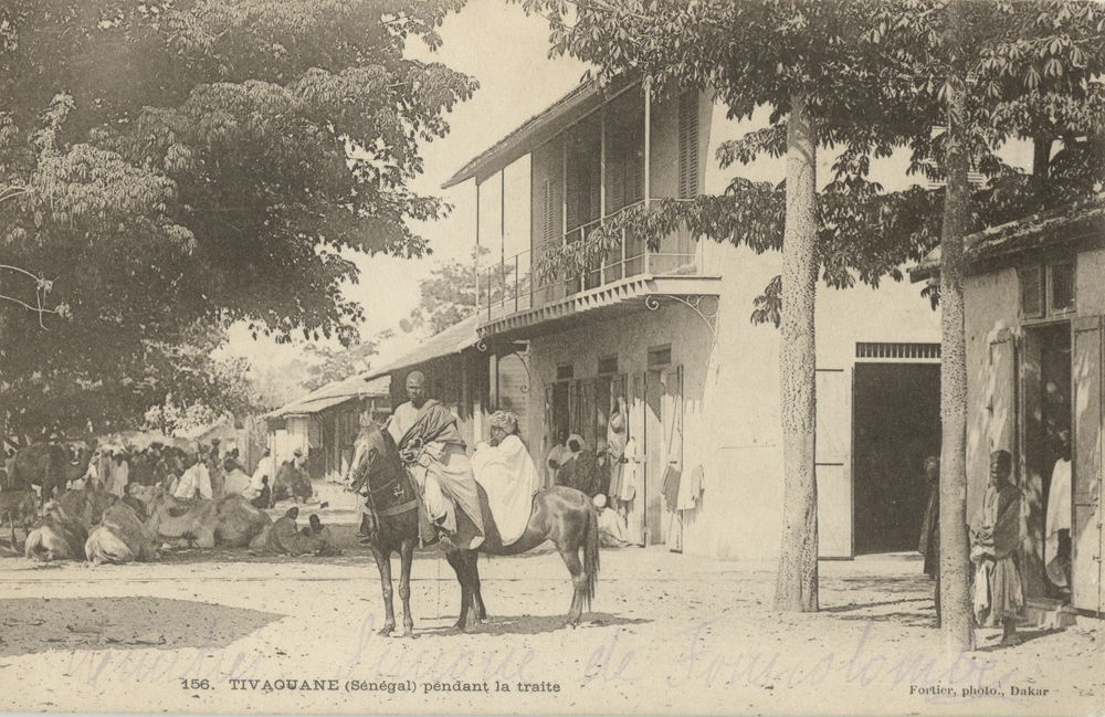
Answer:
POLYGON ((461 4, 4 3, 0 265, 28 273, 0 285, 4 413, 110 393, 138 420, 165 399, 138 377, 197 323, 352 341, 339 252, 421 255, 408 220, 448 210, 409 184, 475 83, 406 48, 461 4))

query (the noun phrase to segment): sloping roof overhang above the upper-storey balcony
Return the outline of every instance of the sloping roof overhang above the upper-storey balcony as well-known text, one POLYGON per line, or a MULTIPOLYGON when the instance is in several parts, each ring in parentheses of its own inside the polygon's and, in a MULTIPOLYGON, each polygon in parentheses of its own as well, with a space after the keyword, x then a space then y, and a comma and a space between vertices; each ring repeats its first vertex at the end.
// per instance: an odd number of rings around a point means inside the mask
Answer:
POLYGON ((556 137, 566 127, 598 109, 603 102, 621 94, 634 84, 636 82, 625 78, 615 78, 606 88, 594 81, 580 84, 462 167, 441 188, 449 189, 469 179, 475 179, 477 184, 482 184, 495 173, 556 137))

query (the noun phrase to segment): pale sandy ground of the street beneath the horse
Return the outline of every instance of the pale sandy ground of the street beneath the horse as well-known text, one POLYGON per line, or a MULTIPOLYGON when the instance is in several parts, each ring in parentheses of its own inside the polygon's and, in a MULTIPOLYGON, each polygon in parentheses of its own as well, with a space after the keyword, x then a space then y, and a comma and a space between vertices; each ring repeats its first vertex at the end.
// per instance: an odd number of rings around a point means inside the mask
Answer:
MULTIPOLYGON (((817 614, 770 610, 771 565, 603 550, 593 611, 555 552, 482 558, 490 622, 455 634, 439 553, 412 580, 415 637, 381 637, 349 498, 337 558, 178 550, 91 568, 0 559, 3 709, 199 713, 1083 715, 1105 711, 1105 630, 1080 619, 945 657, 917 556, 821 563, 817 614), (1031 692, 1030 692, 1031 690, 1031 692)), ((284 506, 282 506, 283 508, 284 506)), ((306 507, 302 516, 314 512, 306 507)), ((283 513, 277 509, 274 513, 283 513)), ((2 534, 0 534, 2 537, 2 534)), ((398 574, 398 561, 394 565, 398 574)), ((398 593, 397 593, 398 609, 398 593)))

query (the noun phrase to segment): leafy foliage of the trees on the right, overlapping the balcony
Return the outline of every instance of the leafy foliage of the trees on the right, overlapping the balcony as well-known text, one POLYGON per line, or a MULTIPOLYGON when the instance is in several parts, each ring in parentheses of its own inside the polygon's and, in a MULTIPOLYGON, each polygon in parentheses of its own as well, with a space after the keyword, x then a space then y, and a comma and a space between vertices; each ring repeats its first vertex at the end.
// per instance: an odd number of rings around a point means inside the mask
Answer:
MULTIPOLYGON (((944 190, 929 184, 944 180, 947 141, 947 133, 932 131, 946 123, 943 1, 529 0, 526 7, 549 17, 551 53, 597 63, 600 82, 631 73, 656 92, 712 86, 736 118, 771 107, 769 126, 718 147, 723 168, 785 154, 790 93, 807 92, 821 143, 841 152, 819 197, 819 263, 828 285, 901 280, 901 266, 938 242, 944 190), (870 179, 871 164, 899 147, 926 184, 888 193, 870 179)), ((1050 0, 971 7, 975 36, 987 39, 978 40, 969 68, 981 88, 969 95, 972 166, 987 180, 974 192, 972 225, 1090 197, 1105 166, 1098 109, 1105 88, 1093 80, 1105 71, 1103 9, 1050 0), (1013 138, 1059 144, 1050 172, 1004 164, 1000 150, 1013 138)), ((543 281, 578 274, 617 249, 623 230, 655 246, 685 224, 757 252, 779 249, 785 191, 736 177, 719 197, 653 202, 651 212, 625 212, 585 242, 549 250, 537 274, 543 281)), ((778 300, 779 292, 766 289, 757 306, 778 300)), ((772 312, 778 306, 757 309, 754 320, 772 312)))

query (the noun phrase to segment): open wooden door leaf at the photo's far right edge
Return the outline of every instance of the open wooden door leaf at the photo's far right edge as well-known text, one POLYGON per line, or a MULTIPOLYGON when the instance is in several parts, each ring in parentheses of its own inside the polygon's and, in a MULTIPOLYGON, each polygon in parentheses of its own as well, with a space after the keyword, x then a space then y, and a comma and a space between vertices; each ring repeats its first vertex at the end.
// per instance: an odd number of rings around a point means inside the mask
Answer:
POLYGON ((1072 516, 1072 604, 1082 610, 1103 610, 1102 555, 1102 417, 1105 407, 1102 377, 1102 317, 1074 319, 1072 375, 1074 389, 1074 465, 1072 516))

